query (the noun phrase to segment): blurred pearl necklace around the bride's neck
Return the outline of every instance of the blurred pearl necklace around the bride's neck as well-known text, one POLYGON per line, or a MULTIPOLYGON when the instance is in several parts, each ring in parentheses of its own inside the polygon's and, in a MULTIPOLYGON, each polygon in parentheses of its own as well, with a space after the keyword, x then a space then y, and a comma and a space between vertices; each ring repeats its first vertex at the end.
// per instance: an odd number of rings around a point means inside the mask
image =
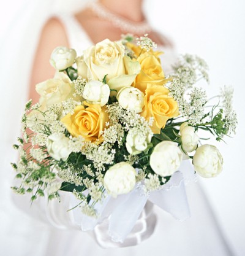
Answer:
POLYGON ((151 27, 146 21, 137 23, 127 20, 126 18, 119 17, 106 7, 102 6, 99 2, 89 3, 89 8, 97 17, 110 21, 115 28, 121 29, 124 33, 141 35, 151 32, 151 27))

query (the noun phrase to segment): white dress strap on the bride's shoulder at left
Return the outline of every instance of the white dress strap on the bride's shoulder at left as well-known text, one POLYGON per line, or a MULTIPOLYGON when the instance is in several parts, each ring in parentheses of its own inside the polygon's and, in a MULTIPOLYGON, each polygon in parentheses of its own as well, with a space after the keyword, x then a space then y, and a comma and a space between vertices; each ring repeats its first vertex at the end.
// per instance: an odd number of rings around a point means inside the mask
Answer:
POLYGON ((82 55, 83 50, 93 45, 88 34, 73 14, 58 14, 56 17, 61 21, 66 30, 69 47, 74 48, 78 55, 82 55))

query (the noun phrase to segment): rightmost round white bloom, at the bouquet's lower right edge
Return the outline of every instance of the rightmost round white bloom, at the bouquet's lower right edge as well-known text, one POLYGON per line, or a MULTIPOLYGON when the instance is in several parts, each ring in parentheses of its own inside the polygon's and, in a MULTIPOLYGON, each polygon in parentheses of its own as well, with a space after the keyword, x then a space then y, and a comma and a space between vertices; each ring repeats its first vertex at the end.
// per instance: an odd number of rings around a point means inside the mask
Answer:
POLYGON ((215 177, 222 171, 223 158, 214 145, 201 145, 193 157, 195 171, 202 177, 215 177))

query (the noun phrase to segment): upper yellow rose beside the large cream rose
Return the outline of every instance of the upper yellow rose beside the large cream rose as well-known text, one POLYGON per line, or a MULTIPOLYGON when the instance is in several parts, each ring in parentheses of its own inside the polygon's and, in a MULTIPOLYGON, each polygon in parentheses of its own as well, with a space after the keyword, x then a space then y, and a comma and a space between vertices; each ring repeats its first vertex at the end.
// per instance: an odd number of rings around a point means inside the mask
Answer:
POLYGON ((137 61, 140 63, 140 74, 135 78, 134 87, 145 93, 147 84, 164 85, 168 80, 165 79, 164 71, 159 58, 151 52, 141 53, 137 61))

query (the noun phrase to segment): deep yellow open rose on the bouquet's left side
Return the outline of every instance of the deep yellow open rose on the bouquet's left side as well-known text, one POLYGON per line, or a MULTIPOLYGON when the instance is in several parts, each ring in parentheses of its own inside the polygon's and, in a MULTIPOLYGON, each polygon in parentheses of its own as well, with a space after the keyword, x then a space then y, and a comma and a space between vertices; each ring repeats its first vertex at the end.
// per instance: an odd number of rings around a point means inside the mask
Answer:
POLYGON ((74 114, 67 114, 61 119, 67 130, 74 137, 82 136, 86 141, 102 142, 101 131, 105 129, 105 123, 108 122, 108 114, 105 107, 99 104, 88 104, 83 102, 85 106, 77 106, 74 114))

